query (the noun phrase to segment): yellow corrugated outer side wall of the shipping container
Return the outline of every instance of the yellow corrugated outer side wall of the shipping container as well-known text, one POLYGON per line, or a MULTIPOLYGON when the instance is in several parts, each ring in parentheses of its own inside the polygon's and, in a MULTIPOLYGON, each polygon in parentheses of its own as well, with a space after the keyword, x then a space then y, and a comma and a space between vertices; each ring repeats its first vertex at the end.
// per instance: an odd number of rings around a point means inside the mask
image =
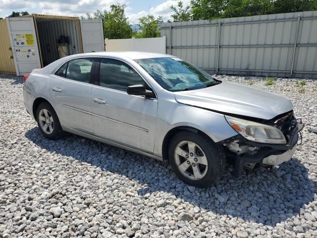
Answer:
POLYGON ((15 66, 12 57, 12 50, 8 27, 5 19, 0 20, 0 73, 15 74, 15 66))

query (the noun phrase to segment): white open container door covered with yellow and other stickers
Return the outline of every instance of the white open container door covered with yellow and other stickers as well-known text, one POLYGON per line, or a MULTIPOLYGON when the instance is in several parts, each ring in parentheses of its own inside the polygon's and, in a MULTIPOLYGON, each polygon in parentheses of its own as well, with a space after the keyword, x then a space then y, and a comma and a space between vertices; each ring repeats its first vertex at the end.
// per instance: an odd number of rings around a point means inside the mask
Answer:
POLYGON ((16 75, 30 73, 41 67, 33 17, 7 17, 8 32, 16 75))

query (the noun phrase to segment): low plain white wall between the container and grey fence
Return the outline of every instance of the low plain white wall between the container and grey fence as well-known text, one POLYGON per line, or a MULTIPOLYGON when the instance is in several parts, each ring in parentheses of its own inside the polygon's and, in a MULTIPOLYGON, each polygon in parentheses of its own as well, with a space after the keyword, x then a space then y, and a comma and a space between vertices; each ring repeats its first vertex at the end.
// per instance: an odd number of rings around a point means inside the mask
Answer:
POLYGON ((132 39, 105 39, 106 51, 143 51, 166 53, 166 37, 132 38, 132 39))

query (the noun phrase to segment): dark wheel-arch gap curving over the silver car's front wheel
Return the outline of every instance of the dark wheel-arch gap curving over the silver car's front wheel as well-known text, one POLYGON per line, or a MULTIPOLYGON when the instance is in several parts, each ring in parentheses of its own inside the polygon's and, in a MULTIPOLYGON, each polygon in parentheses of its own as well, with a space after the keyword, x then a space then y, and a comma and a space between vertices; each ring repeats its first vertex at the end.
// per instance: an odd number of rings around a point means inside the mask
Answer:
POLYGON ((184 126, 183 125, 182 126, 176 126, 176 127, 172 128, 172 129, 170 129, 166 133, 166 135, 164 136, 163 143, 162 143, 162 158, 163 158, 163 161, 168 161, 168 146, 169 146, 170 140, 172 139, 172 137, 176 133, 178 133, 179 131, 183 131, 183 130, 187 130, 187 131, 191 131, 191 132, 203 135, 204 137, 207 137, 210 140, 212 140, 212 138, 210 136, 208 136, 205 132, 203 132, 203 131, 195 128, 195 127, 185 126, 185 125, 184 126))

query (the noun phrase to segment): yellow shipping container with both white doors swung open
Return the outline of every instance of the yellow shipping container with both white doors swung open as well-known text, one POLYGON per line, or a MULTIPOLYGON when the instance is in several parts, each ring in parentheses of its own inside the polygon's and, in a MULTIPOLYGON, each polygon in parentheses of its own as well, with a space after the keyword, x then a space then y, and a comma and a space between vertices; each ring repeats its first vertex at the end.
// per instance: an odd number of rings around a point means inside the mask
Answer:
POLYGON ((42 14, 7 17, 0 21, 0 40, 6 42, 0 46, 5 52, 0 55, 0 71, 16 75, 67 55, 105 51, 101 19, 42 14))

